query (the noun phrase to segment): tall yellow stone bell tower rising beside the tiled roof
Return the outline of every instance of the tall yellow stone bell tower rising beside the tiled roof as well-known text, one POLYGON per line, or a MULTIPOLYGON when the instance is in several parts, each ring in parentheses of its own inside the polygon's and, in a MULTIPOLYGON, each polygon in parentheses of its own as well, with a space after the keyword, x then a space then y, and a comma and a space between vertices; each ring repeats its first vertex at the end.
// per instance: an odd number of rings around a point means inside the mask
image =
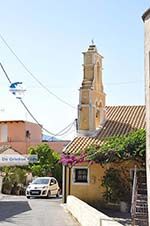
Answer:
POLYGON ((79 135, 95 135, 105 119, 102 59, 93 43, 87 52, 83 52, 83 81, 79 89, 78 105, 79 135))

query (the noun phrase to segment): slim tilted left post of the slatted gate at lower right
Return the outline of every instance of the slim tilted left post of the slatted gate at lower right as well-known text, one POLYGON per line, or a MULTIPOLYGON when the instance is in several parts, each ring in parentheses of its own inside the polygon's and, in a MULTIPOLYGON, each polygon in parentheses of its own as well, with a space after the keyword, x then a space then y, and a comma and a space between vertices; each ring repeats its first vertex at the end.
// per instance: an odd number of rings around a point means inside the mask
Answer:
POLYGON ((134 226, 134 218, 136 211, 136 193, 137 193, 137 169, 134 167, 133 187, 132 187, 132 201, 131 201, 131 218, 132 226, 134 226))

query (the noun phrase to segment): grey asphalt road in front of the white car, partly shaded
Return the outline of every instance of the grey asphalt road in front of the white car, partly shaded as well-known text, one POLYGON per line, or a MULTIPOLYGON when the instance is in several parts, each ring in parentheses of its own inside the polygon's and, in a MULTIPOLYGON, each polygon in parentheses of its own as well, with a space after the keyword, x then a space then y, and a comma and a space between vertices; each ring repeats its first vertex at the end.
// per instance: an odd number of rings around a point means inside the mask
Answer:
POLYGON ((79 226, 58 198, 0 198, 0 226, 79 226))

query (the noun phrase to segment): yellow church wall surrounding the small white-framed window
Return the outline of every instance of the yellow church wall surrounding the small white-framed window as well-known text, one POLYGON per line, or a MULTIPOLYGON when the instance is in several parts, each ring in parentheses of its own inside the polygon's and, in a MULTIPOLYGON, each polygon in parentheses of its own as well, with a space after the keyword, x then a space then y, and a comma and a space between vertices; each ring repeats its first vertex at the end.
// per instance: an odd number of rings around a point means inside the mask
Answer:
MULTIPOLYGON (((120 170, 127 170, 126 176, 130 178, 130 170, 134 169, 134 166, 137 165, 138 168, 140 164, 134 161, 124 161, 122 163, 111 163, 111 164, 80 164, 78 166, 88 166, 89 167, 89 183, 73 183, 73 168, 70 169, 70 191, 69 191, 69 170, 67 169, 67 194, 74 195, 77 198, 85 202, 95 202, 101 201, 103 199, 103 193, 105 188, 102 187, 102 178, 105 175, 105 171, 110 167, 117 168, 120 170)), ((118 185, 119 186, 119 185, 118 185)))

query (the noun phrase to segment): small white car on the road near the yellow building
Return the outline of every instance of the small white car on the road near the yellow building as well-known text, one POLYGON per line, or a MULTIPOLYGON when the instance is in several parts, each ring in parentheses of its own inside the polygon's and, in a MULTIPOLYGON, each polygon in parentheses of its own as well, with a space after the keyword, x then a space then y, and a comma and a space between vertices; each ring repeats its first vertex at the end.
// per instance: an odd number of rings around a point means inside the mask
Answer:
POLYGON ((37 177, 26 189, 26 197, 59 197, 60 188, 54 177, 37 177))

